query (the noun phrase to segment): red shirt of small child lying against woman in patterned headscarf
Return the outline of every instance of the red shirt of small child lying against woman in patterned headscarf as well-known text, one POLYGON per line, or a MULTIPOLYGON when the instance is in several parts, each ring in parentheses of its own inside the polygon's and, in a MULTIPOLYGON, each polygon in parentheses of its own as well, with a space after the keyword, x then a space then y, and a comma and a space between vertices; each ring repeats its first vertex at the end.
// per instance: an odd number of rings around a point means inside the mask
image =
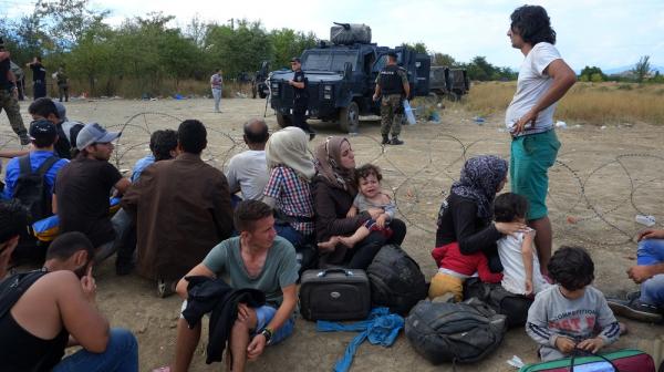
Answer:
POLYGON ((450 242, 446 246, 434 248, 432 256, 436 260, 436 266, 448 269, 466 276, 479 273, 479 280, 484 282, 497 283, 502 280, 501 272, 491 272, 489 261, 481 251, 473 255, 464 255, 459 250, 458 242, 450 242))

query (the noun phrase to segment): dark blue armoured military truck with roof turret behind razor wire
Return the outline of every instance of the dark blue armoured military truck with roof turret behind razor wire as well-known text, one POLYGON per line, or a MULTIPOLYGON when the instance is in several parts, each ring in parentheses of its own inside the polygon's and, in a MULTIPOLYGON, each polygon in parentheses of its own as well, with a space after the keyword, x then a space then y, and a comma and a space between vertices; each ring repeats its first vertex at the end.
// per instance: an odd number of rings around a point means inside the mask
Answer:
MULTIPOLYGON (((336 122, 344 132, 356 132, 361 115, 380 115, 380 104, 372 96, 391 49, 371 43, 371 29, 364 24, 338 23, 330 39, 300 56, 308 80, 308 116, 336 122)), ((407 71, 411 95, 428 95, 429 56, 403 46, 393 50, 397 63, 407 71)), ((270 73, 270 106, 282 127, 291 123, 293 89, 288 82, 292 78, 292 71, 270 73)))

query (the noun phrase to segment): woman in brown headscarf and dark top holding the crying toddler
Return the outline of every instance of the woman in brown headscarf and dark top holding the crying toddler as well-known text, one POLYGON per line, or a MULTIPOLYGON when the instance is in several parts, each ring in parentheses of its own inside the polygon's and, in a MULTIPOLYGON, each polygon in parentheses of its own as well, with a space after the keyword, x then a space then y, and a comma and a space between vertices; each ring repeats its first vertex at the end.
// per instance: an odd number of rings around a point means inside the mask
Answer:
MULTIPOLYGON (((345 137, 332 136, 321 143, 314 153, 318 175, 313 178, 313 204, 315 206, 317 241, 328 241, 333 236, 350 236, 357 227, 371 218, 376 218, 382 209, 374 208, 353 217, 346 214, 357 195, 355 182, 355 155, 345 137)), ((390 223, 393 230, 388 239, 380 231, 373 231, 353 248, 336 245, 333 250, 319 250, 323 265, 347 262, 351 269, 366 269, 374 256, 385 244, 401 245, 406 236, 406 225, 394 218, 390 223)))

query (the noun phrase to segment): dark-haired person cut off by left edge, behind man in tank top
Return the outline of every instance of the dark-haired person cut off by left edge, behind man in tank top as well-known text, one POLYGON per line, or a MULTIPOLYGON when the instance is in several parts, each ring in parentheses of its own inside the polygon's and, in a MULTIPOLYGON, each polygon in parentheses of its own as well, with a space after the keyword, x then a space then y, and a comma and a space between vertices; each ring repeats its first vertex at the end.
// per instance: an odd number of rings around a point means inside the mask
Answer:
POLYGON ((0 202, 0 281, 27 225, 28 211, 19 200, 0 202))

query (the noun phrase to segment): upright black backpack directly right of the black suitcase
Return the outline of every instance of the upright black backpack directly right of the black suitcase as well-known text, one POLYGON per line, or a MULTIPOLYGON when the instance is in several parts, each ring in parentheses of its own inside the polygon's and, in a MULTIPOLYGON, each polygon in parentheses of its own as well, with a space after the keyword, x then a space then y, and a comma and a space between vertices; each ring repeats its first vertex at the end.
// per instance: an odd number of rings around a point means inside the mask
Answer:
POLYGON ((381 248, 366 269, 373 307, 387 307, 405 316, 427 293, 426 281, 415 262, 396 245, 381 248))

